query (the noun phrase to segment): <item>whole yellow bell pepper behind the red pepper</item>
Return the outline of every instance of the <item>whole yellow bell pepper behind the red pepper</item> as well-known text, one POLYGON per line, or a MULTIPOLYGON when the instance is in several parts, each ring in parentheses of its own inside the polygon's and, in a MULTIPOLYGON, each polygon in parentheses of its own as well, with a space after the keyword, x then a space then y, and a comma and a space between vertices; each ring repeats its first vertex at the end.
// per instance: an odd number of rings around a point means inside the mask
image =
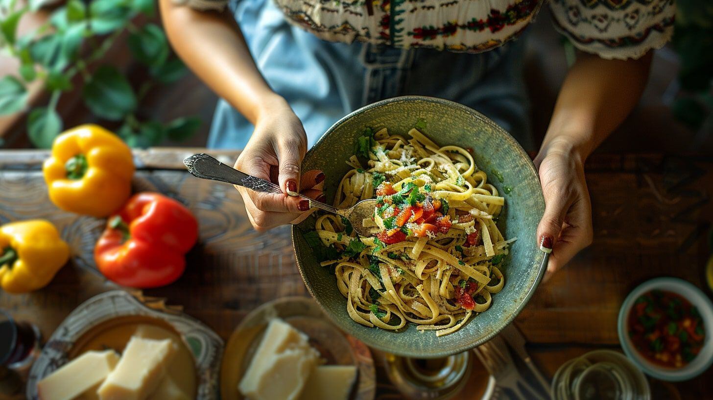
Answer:
POLYGON ((131 194, 131 149, 110 131, 81 125, 55 139, 43 166, 49 198, 60 209, 108 216, 131 194))

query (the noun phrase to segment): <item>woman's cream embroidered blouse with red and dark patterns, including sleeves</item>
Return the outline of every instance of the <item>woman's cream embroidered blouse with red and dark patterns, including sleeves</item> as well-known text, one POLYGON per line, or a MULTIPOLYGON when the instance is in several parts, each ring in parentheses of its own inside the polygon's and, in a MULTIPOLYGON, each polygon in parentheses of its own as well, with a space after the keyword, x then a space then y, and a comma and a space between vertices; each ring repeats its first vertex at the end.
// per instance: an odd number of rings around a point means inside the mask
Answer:
MULTIPOLYGON (((222 9, 228 0, 174 0, 222 9)), ((240 0, 239 0, 240 1, 240 0)), ((274 0, 292 24, 327 41, 478 53, 520 34, 545 0, 274 0)), ((580 50, 637 59, 673 33, 674 0, 550 0, 555 28, 580 50)))

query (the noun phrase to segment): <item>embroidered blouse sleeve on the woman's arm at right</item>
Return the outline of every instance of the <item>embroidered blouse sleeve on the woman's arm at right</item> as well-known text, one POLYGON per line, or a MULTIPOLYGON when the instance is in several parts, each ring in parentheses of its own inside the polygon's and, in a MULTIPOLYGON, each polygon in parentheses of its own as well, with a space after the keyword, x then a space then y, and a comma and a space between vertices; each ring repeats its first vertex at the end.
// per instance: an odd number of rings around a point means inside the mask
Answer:
POLYGON ((603 59, 638 59, 673 34, 674 0, 551 0, 555 28, 603 59))

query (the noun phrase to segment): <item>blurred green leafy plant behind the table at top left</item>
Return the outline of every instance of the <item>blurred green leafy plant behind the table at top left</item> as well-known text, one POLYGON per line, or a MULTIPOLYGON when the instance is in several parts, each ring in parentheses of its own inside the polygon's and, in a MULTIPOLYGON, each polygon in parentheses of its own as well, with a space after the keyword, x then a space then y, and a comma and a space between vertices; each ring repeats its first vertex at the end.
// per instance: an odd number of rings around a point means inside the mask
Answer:
POLYGON ((121 122, 116 133, 130 146, 152 146, 166 138, 186 139, 198 129, 200 119, 196 118, 164 123, 137 116, 140 101, 153 86, 171 84, 185 73, 160 26, 133 23, 142 14, 154 16, 153 0, 68 0, 38 29, 17 34, 21 16, 38 10, 42 3, 0 0, 0 49, 21 64, 19 77, 0 77, 0 115, 26 108, 26 86, 33 81, 42 81, 50 93, 46 106, 29 111, 27 131, 35 146, 50 147, 62 131, 56 106, 64 93, 75 90, 81 91, 84 104, 94 115, 121 122), (133 58, 150 76, 138 87, 133 87, 116 66, 103 63, 119 38, 126 38, 133 58), (73 84, 77 75, 81 76, 81 87, 73 84))

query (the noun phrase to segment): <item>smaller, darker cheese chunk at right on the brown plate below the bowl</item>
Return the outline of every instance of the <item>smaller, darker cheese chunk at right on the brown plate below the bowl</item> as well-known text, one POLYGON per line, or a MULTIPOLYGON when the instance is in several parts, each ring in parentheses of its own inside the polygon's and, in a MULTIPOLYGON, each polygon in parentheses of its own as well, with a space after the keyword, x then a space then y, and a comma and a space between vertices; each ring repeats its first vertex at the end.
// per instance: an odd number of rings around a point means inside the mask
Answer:
POLYGON ((356 366, 323 365, 314 369, 302 391, 302 400, 347 400, 356 380, 356 366))

